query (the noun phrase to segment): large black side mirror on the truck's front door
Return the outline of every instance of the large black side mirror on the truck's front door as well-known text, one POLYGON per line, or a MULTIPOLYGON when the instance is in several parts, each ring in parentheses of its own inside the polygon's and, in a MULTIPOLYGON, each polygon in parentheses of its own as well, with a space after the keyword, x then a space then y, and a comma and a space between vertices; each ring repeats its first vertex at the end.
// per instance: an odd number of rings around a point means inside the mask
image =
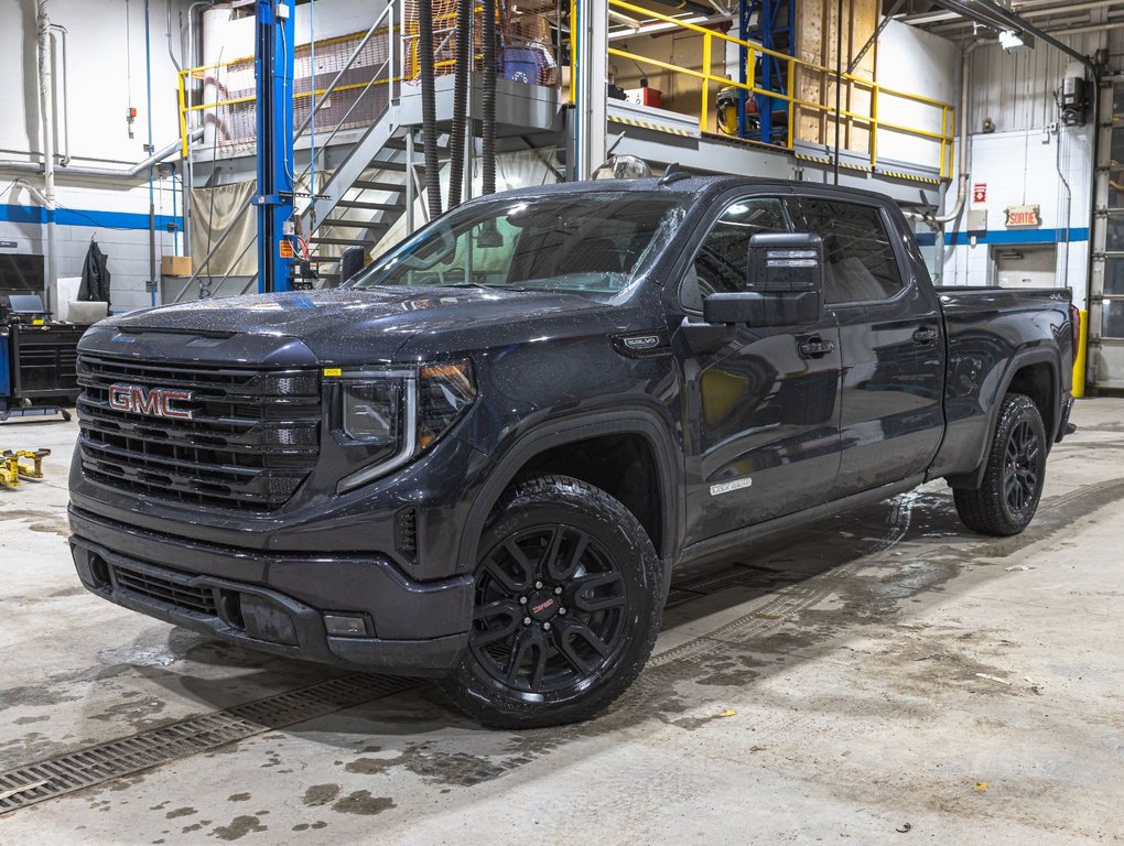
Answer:
POLYGON ((708 324, 805 326, 823 313, 824 242, 818 235, 769 233, 750 240, 746 289, 703 301, 708 324))

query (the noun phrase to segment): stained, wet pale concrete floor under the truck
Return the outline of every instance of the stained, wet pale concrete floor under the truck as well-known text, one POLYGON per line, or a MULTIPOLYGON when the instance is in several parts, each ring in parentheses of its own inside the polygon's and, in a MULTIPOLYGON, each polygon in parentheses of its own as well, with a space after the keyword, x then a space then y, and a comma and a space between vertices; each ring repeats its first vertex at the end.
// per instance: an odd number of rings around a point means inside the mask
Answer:
MULTIPOLYGON (((0 843, 1122 843, 1124 401, 1075 421, 1023 536, 933 484, 746 551, 591 724, 484 731, 419 685, 0 816, 0 843)), ((87 594, 74 435, 0 427, 55 449, 0 490, 0 772, 336 675, 87 594)))

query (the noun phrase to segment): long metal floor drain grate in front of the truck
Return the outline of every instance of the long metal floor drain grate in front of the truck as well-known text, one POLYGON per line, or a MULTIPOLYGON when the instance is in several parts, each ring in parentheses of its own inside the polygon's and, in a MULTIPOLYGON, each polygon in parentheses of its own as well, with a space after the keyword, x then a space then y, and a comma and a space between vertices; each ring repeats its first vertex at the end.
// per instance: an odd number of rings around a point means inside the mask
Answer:
POLYGON ((348 675, 9 770, 0 773, 0 815, 417 684, 413 679, 348 675))

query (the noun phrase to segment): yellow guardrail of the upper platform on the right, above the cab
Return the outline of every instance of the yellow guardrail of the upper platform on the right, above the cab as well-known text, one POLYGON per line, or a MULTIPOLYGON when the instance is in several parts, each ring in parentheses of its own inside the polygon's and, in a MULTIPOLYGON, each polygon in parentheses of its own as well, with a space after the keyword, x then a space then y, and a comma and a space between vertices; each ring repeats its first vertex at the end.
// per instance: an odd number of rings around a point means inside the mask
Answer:
MULTIPOLYGON (((814 100, 805 100, 797 97, 794 93, 792 88, 797 80, 798 71, 812 72, 817 74, 817 78, 827 81, 827 85, 834 91, 836 85, 842 85, 846 89, 853 91, 853 89, 861 89, 870 93, 870 109, 869 112, 856 112, 850 109, 841 109, 839 112, 839 119, 849 121, 851 125, 860 125, 867 127, 870 131, 870 145, 868 151, 863 151, 863 155, 869 156, 869 162, 871 169, 876 167, 878 164, 878 135, 880 130, 898 133, 903 135, 909 135, 916 138, 924 138, 926 140, 933 142, 940 147, 940 156, 937 167, 940 170, 941 178, 949 178, 952 175, 952 163, 953 163, 953 151, 955 146, 955 107, 951 103, 943 102, 941 100, 935 100, 930 97, 923 97, 921 94, 909 93, 907 91, 899 91, 897 89, 882 85, 873 80, 863 79, 862 76, 856 76, 852 73, 844 73, 842 75, 836 74, 831 67, 825 67, 823 65, 816 64, 814 62, 807 62, 795 56, 790 56, 787 53, 780 53, 778 51, 769 49, 754 42, 743 40, 736 38, 732 35, 720 33, 714 29, 707 29, 706 27, 698 26, 696 24, 688 24, 678 18, 673 18, 668 15, 663 15, 651 9, 646 9, 641 6, 635 6, 627 0, 608 0, 609 7, 625 12, 631 12, 629 17, 640 16, 645 21, 660 21, 669 25, 673 25, 676 28, 695 33, 703 38, 703 62, 701 69, 683 67, 681 65, 676 65, 670 62, 664 62, 662 60, 652 58, 644 56, 638 53, 631 53, 623 49, 617 49, 615 47, 609 47, 609 55, 617 56, 619 58, 625 58, 632 62, 637 62, 642 65, 650 65, 652 67, 659 67, 664 71, 674 74, 682 74, 685 76, 691 76, 701 81, 700 92, 699 92, 699 130, 707 131, 710 118, 710 87, 722 85, 732 87, 745 91, 746 94, 758 95, 763 98, 770 98, 771 100, 780 100, 785 103, 785 110, 788 112, 788 131, 787 139, 785 144, 765 144, 770 147, 779 147, 781 149, 792 151, 796 146, 796 118, 798 109, 809 109, 814 112, 823 115, 826 118, 834 118, 836 116, 834 106, 827 103, 817 102, 814 100), (715 39, 724 42, 725 44, 732 44, 740 48, 743 48, 746 53, 746 64, 745 64, 745 79, 746 81, 740 82, 738 80, 731 80, 725 74, 716 74, 713 72, 713 60, 715 55, 715 39), (770 91, 763 89, 756 84, 756 64, 759 57, 769 56, 782 62, 787 65, 788 73, 786 74, 787 83, 785 91, 770 91), (879 108, 885 109, 885 99, 900 99, 912 103, 919 103, 926 108, 932 108, 940 113, 940 130, 925 129, 923 127, 906 126, 904 124, 898 124, 891 120, 885 120, 879 117, 879 108)), ((571 15, 573 6, 571 4, 571 15)), ((572 19, 572 18, 571 18, 572 19)), ((577 45, 573 42, 573 27, 571 27, 571 102, 573 101, 573 82, 577 79, 578 69, 575 66, 577 62, 577 45)), ((672 30, 674 31, 674 30, 672 30)), ((719 51, 719 56, 722 52, 719 51)), ((828 98, 828 99, 834 99, 828 98)), ((847 98, 852 99, 852 98, 847 98)), ((934 113, 933 122, 936 122, 936 113, 934 113)))

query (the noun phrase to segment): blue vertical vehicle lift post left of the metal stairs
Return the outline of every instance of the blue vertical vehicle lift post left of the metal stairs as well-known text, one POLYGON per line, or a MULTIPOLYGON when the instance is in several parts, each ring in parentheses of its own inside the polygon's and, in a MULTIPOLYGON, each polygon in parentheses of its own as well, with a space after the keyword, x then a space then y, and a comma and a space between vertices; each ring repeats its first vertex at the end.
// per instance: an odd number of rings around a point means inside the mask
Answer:
POLYGON ((293 217, 293 63, 296 0, 259 0, 257 76, 257 290, 291 289, 296 251, 293 217))

